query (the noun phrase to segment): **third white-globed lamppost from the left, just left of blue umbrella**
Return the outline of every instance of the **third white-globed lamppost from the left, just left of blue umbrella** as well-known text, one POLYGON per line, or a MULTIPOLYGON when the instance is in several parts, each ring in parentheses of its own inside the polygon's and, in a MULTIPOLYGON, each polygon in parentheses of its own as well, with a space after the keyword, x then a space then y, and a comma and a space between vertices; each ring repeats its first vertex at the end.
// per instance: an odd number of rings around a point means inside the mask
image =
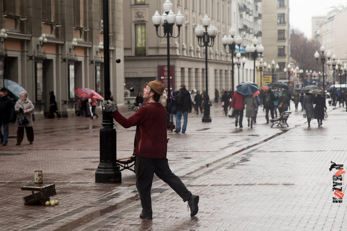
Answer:
MULTIPOLYGON (((227 37, 226 35, 223 36, 222 38, 222 43, 224 46, 224 51, 227 54, 231 54, 231 85, 232 85, 232 91, 234 91, 234 53, 236 51, 236 44, 238 45, 238 51, 236 52, 237 54, 240 52, 240 45, 242 43, 242 38, 237 35, 235 38, 235 33, 236 30, 234 28, 229 29, 229 36, 227 37), (228 49, 227 49, 228 45, 228 49)), ((239 66, 238 66, 239 67, 239 66)), ((238 82, 240 84, 240 76, 238 79, 238 82)))

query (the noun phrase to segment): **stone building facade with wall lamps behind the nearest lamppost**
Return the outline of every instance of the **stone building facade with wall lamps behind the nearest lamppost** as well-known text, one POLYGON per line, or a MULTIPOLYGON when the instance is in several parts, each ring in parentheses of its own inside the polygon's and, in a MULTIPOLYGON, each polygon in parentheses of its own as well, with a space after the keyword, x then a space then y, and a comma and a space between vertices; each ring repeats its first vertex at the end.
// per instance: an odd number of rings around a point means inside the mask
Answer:
MULTIPOLYGON (((124 105, 124 64, 116 64, 123 58, 122 2, 109 3, 110 89, 119 108, 124 105)), ((102 0, 2 0, 0 8, 7 34, 0 47, 7 54, 3 78, 26 89, 35 117, 48 114, 49 90, 63 117, 75 114, 75 89, 104 94, 103 50, 98 47, 103 42, 102 0)))

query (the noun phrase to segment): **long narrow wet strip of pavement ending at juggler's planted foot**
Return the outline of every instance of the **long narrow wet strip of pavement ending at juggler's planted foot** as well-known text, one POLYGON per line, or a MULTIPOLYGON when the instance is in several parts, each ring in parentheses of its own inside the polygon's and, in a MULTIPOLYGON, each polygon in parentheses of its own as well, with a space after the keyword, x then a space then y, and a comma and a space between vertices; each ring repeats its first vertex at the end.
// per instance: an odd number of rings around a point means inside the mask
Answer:
MULTIPOLYGON (((139 199, 140 199, 139 194, 136 194, 135 196, 129 197, 129 198, 125 199, 124 201, 119 202, 115 205, 111 205, 111 206, 108 206, 104 209, 97 210, 97 211, 92 212, 90 214, 86 214, 82 217, 79 217, 77 220, 68 222, 68 223, 66 223, 66 224, 64 224, 64 225, 60 226, 59 228, 54 229, 52 231, 73 230, 77 227, 84 226, 84 225, 86 225, 87 222, 92 221, 96 217, 101 217, 106 213, 113 212, 113 211, 117 210, 118 208, 120 208, 124 205, 128 205, 130 202, 138 201, 139 199)), ((54 223, 56 223, 56 221, 52 221, 52 224, 54 224, 54 223)))

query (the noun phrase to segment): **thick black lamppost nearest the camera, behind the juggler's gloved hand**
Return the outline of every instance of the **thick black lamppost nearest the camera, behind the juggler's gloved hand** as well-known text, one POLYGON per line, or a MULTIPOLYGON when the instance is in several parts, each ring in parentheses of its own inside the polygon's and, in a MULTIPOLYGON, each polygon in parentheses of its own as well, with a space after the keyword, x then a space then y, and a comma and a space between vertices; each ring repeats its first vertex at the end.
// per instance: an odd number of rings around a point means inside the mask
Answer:
MULTIPOLYGON (((102 0, 104 26, 104 90, 105 99, 110 98, 110 35, 109 35, 109 3, 102 0)), ((120 59, 116 59, 120 63, 120 59)), ((95 183, 122 183, 122 174, 117 163, 117 136, 113 127, 112 112, 102 110, 102 127, 100 128, 100 163, 95 172, 95 183)))

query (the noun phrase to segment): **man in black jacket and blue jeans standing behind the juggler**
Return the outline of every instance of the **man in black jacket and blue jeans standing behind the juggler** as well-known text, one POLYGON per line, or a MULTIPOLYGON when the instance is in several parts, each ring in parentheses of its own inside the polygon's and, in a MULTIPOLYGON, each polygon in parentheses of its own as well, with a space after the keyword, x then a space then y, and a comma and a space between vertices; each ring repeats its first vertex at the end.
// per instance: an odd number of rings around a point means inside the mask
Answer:
POLYGON ((179 92, 177 93, 177 99, 176 99, 176 133, 179 133, 181 131, 181 118, 183 115, 183 127, 182 127, 182 133, 186 132, 187 128, 187 121, 188 121, 188 112, 192 112, 192 100, 191 100, 191 94, 186 89, 186 85, 182 84, 181 88, 179 89, 179 92))

